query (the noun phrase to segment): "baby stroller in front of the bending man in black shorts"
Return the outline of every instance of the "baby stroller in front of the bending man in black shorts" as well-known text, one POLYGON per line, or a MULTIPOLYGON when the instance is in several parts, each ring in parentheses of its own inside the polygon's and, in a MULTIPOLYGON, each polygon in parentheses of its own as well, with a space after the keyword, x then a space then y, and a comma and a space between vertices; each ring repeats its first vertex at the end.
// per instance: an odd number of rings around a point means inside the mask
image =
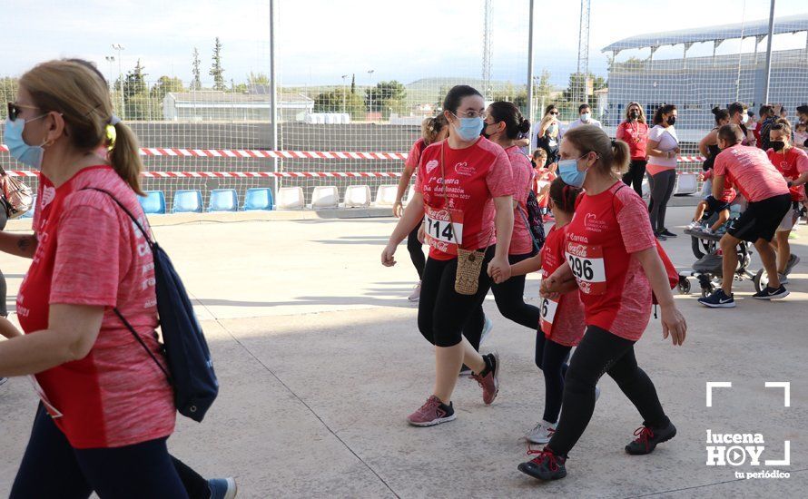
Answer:
MULTIPOLYGON (((698 280, 703 297, 711 295, 724 276, 723 258, 718 241, 721 240, 726 230, 732 227, 732 224, 740 215, 740 206, 734 204, 730 209, 729 220, 727 220, 719 230, 716 230, 715 233, 707 234, 700 228, 685 229, 685 234, 691 237, 691 248, 696 258, 693 264, 693 271, 690 273, 689 277, 698 280)), ((709 217, 705 217, 700 221, 703 227, 709 227, 717 219, 718 213, 711 213, 709 217)), ((747 270, 752 263, 752 253, 749 243, 741 241, 735 250, 738 254, 738 266, 735 269, 734 279, 738 281, 754 279, 755 276, 747 270)), ((755 286, 757 286, 757 283, 755 283, 755 286)), ((686 277, 679 279, 679 291, 684 295, 690 294, 691 285, 686 277)))

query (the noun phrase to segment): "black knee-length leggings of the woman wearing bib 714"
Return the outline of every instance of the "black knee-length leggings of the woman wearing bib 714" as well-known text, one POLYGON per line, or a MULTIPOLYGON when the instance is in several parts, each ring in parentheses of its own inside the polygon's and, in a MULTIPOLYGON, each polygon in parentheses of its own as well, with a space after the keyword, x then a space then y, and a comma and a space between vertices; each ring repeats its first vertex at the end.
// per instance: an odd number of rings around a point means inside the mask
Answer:
POLYGON ((491 286, 488 262, 494 258, 494 250, 494 246, 489 246, 486 251, 479 286, 474 295, 461 295, 455 291, 458 259, 427 259, 421 279, 418 328, 429 343, 438 347, 454 347, 461 341, 461 331, 486 298, 491 286))

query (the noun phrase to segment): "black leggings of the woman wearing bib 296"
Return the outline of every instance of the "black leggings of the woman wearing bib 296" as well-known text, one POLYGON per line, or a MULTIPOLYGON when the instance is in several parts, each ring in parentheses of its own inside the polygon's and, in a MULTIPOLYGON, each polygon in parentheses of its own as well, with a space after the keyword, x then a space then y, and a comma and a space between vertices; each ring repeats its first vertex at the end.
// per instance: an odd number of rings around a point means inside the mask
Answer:
POLYGON ((637 367, 634 341, 606 329, 589 326, 569 362, 564 384, 564 412, 550 439, 557 455, 566 456, 584 434, 595 411, 595 386, 608 374, 643 416, 644 426, 663 428, 670 423, 648 375, 637 367))

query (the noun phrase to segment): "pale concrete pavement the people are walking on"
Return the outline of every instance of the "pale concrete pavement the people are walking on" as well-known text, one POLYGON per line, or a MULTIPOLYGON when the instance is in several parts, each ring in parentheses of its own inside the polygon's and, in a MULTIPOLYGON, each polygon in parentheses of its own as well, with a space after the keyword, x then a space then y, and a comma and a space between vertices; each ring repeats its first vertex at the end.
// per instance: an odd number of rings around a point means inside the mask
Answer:
MULTIPOLYGON (((692 208, 672 208, 670 225, 692 208)), ((776 303, 750 298, 737 283, 738 308, 710 310, 677 297, 688 320, 684 347, 661 338, 652 319, 637 344, 679 434, 653 455, 623 446, 641 424, 609 378, 585 435, 570 455, 569 476, 539 484, 517 472, 519 438, 541 416, 544 382, 533 365, 535 331, 502 318, 489 296, 494 330, 483 349, 503 359, 502 389, 484 406, 476 383, 458 381, 455 422, 408 426, 404 417, 431 389, 434 356, 406 297, 415 271, 402 245, 399 264, 379 254, 392 219, 272 220, 156 227, 195 300, 222 392, 201 424, 178 418, 172 452, 202 475, 235 475, 240 497, 796 497, 808 486, 808 227, 793 240, 806 263, 792 295, 776 303), (705 382, 731 381, 705 406, 705 382), (766 381, 791 382, 783 390, 766 381), (760 433, 762 463, 707 466, 706 430, 760 433), (790 465, 766 466, 783 458, 790 465), (788 479, 736 479, 735 472, 778 469, 788 479)), ((695 258, 689 238, 664 243, 681 269, 695 258)), ((9 300, 27 262, 0 256, 9 300)), ((760 267, 756 255, 752 269, 760 267)), ((694 287, 695 286, 694 283, 694 287)), ((527 300, 537 302, 536 276, 527 300)), ((36 399, 25 378, 0 387, 0 494, 7 494, 25 449, 36 399)), ((734 455, 730 456, 735 459, 734 455)))

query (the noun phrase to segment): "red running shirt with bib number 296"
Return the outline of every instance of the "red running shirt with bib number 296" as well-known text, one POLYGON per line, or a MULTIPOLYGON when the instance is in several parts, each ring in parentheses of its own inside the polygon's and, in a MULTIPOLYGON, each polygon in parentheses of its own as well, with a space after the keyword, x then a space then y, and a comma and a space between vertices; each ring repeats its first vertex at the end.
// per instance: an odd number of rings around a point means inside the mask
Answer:
POLYGON ((567 226, 565 256, 584 302, 586 325, 632 341, 651 316, 651 285, 631 253, 655 248, 648 209, 617 181, 594 196, 582 194, 567 226))

